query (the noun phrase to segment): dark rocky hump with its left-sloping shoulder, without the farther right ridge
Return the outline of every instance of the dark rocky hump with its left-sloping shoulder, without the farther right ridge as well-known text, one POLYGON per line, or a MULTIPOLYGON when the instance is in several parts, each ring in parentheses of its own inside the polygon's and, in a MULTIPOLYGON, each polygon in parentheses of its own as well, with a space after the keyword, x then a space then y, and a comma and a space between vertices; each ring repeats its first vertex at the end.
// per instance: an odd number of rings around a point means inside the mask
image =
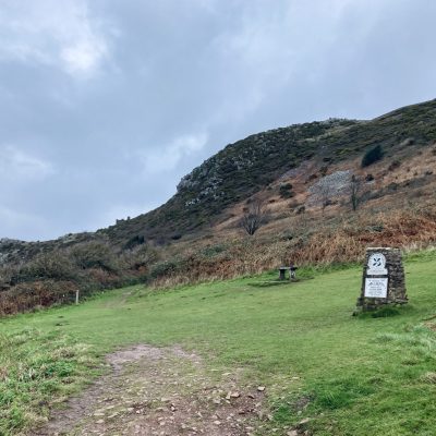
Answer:
POLYGON ((317 153, 322 137, 358 122, 328 120, 258 133, 228 145, 178 185, 164 206, 104 229, 112 241, 144 235, 159 242, 177 239, 219 219, 221 211, 274 182, 317 153))

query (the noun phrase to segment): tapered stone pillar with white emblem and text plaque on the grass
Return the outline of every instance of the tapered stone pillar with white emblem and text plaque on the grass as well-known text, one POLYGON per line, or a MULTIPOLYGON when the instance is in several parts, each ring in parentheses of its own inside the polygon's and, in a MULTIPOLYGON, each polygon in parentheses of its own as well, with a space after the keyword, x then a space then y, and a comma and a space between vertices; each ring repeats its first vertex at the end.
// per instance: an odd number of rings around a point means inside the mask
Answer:
POLYGON ((356 311, 374 311, 384 304, 405 304, 404 268, 399 249, 366 249, 362 291, 356 311))

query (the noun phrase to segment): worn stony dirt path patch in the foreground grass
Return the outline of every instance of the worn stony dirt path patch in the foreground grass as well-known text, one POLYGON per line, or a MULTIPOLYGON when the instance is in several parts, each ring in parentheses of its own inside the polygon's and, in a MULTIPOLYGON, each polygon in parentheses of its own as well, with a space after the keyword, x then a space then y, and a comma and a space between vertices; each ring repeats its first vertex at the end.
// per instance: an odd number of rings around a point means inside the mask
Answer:
POLYGON ((207 373, 179 347, 136 346, 107 362, 110 374, 32 434, 240 436, 263 427, 262 387, 240 386, 238 374, 207 373))

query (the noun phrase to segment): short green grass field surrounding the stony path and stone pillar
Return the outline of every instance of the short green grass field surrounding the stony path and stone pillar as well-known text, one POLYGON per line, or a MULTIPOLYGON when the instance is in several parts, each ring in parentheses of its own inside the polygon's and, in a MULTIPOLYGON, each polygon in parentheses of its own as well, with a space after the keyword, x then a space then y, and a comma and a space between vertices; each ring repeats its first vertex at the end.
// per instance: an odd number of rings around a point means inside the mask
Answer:
POLYGON ((361 268, 350 267, 304 270, 280 286, 268 286, 276 272, 169 291, 135 286, 3 318, 0 434, 35 425, 99 373, 108 351, 178 343, 267 386, 271 427, 311 417, 316 435, 434 435, 436 335, 426 326, 436 258, 415 255, 405 269, 410 304, 390 317, 351 316, 361 268))

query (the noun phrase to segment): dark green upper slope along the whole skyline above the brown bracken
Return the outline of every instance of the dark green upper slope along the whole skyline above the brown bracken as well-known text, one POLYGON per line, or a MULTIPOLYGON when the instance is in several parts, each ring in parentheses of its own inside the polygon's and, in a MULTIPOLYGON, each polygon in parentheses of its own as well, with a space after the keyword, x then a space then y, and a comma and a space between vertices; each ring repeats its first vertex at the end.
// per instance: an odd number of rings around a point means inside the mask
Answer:
POLYGON ((181 180, 178 193, 158 209, 120 220, 99 233, 117 244, 135 238, 158 243, 177 240, 218 223, 231 206, 301 165, 304 169, 313 167, 314 175, 316 171, 328 173, 335 165, 352 164, 365 150, 380 145, 389 167, 398 153, 409 158, 435 141, 436 100, 401 108, 372 121, 332 119, 258 133, 228 145, 195 168, 181 180))

